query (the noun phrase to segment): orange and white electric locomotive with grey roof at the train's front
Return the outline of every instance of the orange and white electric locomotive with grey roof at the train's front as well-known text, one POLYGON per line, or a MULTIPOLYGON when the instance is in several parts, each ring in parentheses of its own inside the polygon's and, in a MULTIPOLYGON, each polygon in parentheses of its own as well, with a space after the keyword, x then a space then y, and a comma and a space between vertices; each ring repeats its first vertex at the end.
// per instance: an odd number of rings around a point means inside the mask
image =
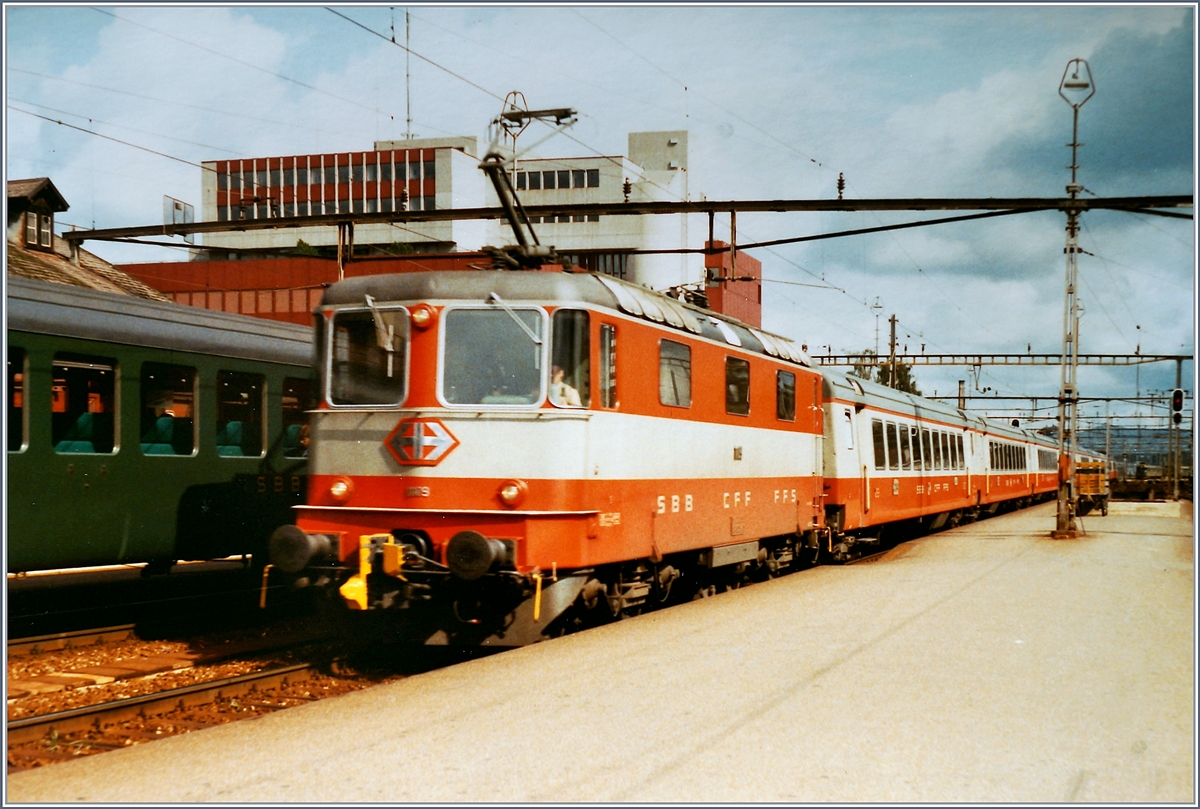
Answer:
POLYGON ((271 562, 352 610, 528 642, 818 549, 821 376, 784 337, 562 271, 352 278, 317 322, 308 503, 271 562))

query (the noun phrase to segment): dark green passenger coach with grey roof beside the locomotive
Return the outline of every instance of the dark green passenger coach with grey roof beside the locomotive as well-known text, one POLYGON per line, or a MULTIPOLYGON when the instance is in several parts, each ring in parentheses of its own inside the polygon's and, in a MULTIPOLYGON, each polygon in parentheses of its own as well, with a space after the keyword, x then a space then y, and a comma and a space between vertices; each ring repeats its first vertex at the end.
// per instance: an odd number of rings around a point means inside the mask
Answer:
POLYGON ((311 329, 10 276, 7 573, 251 556, 304 502, 311 329))

